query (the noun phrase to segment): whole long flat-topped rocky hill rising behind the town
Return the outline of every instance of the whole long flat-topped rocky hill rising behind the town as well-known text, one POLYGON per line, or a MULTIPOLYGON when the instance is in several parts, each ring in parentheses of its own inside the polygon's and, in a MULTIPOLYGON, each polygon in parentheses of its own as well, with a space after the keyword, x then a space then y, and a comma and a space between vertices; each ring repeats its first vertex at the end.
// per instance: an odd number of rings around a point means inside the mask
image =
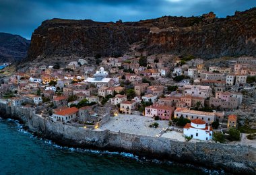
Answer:
POLYGON ((211 59, 256 55, 256 8, 226 18, 164 16, 139 22, 94 22, 53 19, 42 22, 32 34, 28 59, 150 53, 193 54, 211 59))

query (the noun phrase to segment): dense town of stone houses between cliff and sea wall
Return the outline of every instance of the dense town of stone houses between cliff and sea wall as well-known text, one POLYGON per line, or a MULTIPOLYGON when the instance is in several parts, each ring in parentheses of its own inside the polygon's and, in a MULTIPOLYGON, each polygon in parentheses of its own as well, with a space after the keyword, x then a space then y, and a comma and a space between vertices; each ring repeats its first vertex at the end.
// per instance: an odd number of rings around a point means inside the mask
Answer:
POLYGON ((254 57, 136 52, 33 62, 3 79, 0 97, 63 125, 256 147, 255 82, 254 57))

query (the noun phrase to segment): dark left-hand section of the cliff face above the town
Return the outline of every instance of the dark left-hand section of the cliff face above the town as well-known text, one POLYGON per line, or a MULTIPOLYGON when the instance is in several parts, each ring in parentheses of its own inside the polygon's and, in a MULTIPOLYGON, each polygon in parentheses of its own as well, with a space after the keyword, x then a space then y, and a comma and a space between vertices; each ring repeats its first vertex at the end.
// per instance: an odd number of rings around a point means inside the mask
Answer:
POLYGON ((34 31, 28 55, 31 59, 38 55, 119 55, 148 32, 143 26, 53 19, 34 31))

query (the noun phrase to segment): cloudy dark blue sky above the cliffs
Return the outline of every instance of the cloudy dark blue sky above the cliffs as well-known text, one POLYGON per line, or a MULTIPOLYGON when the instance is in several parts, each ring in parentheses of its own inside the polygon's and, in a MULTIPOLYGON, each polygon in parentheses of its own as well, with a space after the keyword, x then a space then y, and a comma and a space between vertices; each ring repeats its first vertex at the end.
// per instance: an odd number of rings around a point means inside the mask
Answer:
POLYGON ((30 39, 44 20, 65 18, 132 22, 163 15, 218 17, 256 7, 256 0, 0 0, 0 32, 30 39))

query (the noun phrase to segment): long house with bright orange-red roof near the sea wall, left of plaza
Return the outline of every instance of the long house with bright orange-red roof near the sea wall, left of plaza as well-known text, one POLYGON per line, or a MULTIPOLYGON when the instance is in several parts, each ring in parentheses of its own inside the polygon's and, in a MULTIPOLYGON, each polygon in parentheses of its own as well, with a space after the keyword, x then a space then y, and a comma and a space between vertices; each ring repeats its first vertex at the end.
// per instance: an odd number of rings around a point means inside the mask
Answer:
POLYGON ((75 120, 77 118, 77 112, 78 112, 78 109, 75 108, 75 107, 72 107, 72 108, 64 108, 64 109, 61 109, 61 110, 57 110, 52 118, 53 118, 53 121, 61 121, 61 122, 68 122, 68 121, 71 121, 71 120, 75 120))

